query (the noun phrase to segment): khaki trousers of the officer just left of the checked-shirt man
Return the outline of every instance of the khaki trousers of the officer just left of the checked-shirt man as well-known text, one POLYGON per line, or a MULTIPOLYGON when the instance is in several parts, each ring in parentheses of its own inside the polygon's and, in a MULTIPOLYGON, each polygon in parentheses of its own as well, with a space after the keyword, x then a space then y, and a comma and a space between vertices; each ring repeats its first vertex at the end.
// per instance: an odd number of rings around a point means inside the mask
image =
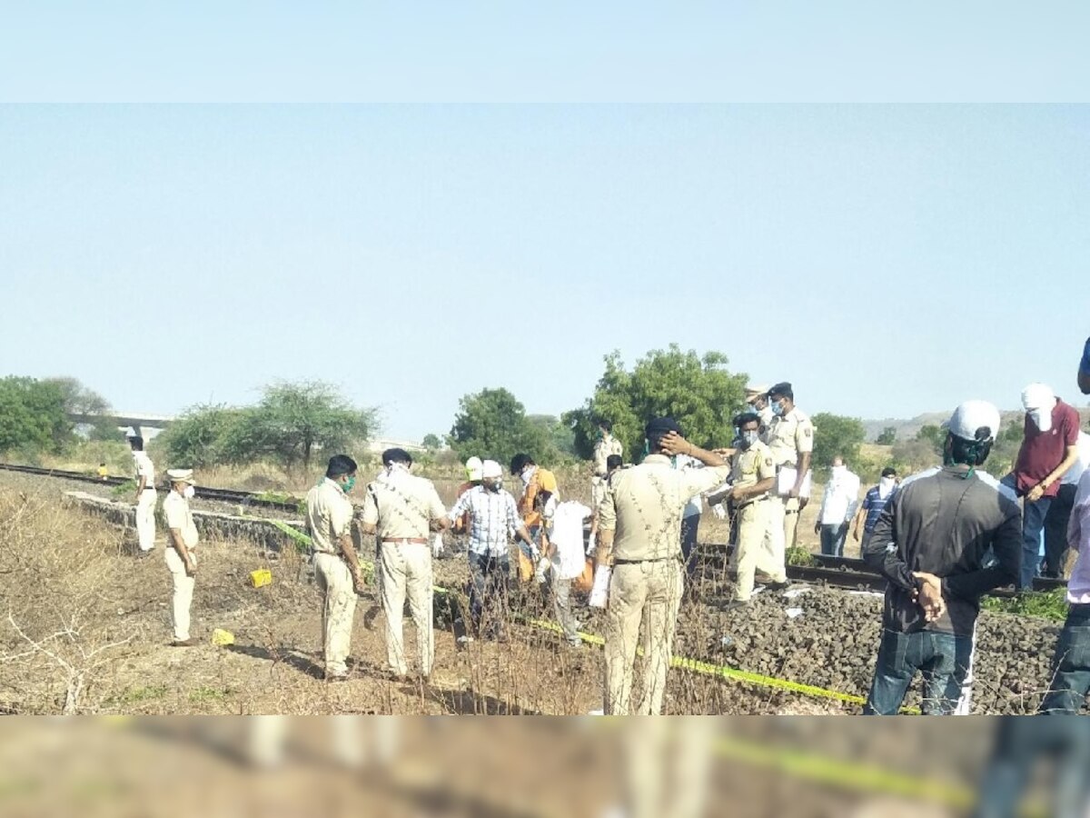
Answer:
POLYGON ((399 674, 409 673, 402 619, 405 597, 416 626, 420 672, 431 675, 435 661, 432 618, 432 546, 414 542, 384 542, 379 550, 383 574, 383 612, 386 614, 386 661, 399 674))

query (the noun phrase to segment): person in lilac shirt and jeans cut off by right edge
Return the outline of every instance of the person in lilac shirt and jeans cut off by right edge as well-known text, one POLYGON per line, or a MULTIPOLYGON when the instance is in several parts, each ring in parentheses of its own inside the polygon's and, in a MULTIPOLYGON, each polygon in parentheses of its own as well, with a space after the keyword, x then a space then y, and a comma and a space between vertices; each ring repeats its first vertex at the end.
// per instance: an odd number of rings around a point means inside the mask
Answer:
POLYGON ((1078 554, 1067 582, 1070 608, 1056 642, 1050 690, 1041 712, 1074 715, 1090 693, 1090 469, 1082 473, 1075 494, 1067 544, 1078 554))

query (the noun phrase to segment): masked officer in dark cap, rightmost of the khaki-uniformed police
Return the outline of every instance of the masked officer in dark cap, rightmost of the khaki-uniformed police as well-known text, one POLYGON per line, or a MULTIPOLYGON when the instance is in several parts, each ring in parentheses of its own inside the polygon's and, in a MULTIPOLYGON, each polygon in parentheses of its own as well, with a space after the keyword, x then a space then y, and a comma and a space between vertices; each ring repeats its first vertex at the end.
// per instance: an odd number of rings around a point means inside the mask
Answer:
MULTIPOLYGON (((779 566, 772 575, 774 582, 787 579, 784 567, 785 552, 794 548, 799 525, 799 513, 810 502, 810 458, 814 450, 814 428, 810 417, 795 406, 795 393, 787 382, 768 389, 773 420, 765 435, 772 449, 777 473, 795 470, 795 481, 786 491, 777 491, 770 504, 768 534, 765 538, 772 563, 779 566)), ((783 486, 777 486, 783 489, 783 486)))

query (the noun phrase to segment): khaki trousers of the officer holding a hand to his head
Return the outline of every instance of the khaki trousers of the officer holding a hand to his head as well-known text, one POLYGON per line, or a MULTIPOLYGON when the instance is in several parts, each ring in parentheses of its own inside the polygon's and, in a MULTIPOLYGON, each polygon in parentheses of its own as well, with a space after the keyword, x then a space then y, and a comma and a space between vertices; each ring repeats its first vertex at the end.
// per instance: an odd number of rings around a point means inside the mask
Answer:
POLYGON ((633 662, 641 623, 643 688, 634 712, 662 712, 683 585, 685 575, 677 560, 614 566, 605 627, 606 715, 633 712, 633 662))

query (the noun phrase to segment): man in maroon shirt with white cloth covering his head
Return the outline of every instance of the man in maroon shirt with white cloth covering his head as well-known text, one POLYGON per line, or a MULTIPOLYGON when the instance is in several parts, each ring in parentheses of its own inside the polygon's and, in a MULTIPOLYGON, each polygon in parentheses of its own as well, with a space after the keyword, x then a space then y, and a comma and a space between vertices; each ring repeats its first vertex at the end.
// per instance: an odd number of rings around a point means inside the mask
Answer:
POLYGON ((1014 471, 1004 478, 1025 501, 1020 590, 1033 587, 1040 563, 1041 530, 1064 473, 1079 459, 1079 413, 1044 384, 1022 389, 1026 424, 1014 471))

